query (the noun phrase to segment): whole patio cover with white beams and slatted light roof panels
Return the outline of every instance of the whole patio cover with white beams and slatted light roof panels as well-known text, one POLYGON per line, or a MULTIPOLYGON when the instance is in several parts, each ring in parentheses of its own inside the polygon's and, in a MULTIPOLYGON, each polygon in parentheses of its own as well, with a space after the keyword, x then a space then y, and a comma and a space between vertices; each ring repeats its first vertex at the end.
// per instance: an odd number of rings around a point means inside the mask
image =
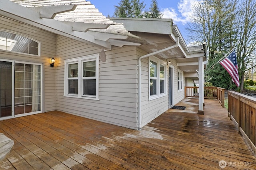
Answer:
MULTIPOLYGON (((106 41, 106 39, 127 39, 127 41, 132 41, 132 43, 126 43, 126 41, 124 41, 125 43, 123 45, 134 45, 142 42, 140 37, 129 33, 123 25, 116 25, 116 23, 107 19, 100 12, 98 12, 98 9, 96 9, 94 5, 92 5, 90 2, 86 2, 85 0, 1 0, 0 16, 39 27, 58 35, 70 37, 96 47, 103 47, 104 49, 111 49, 112 45, 110 42, 106 41), (70 6, 70 4, 73 5, 70 6), (29 6, 30 8, 25 8, 24 6, 29 6), (68 8, 65 8, 64 6, 67 6, 68 8), (77 8, 75 8, 75 6, 77 8), (49 14, 46 14, 47 8, 52 9, 49 14), (72 18, 76 18, 76 14, 78 14, 77 12, 72 13, 71 10, 74 9, 78 10, 78 13, 82 15, 83 12, 88 12, 90 14, 92 11, 93 14, 95 14, 95 20, 94 18, 91 18, 89 19, 91 21, 86 19, 82 20, 81 22, 76 20, 71 22, 72 18), (65 12, 65 10, 68 10, 69 12, 65 12), (69 17, 69 14, 72 15, 70 18, 67 18, 67 20, 61 20, 59 15, 62 14, 64 14, 63 16, 65 16, 65 18, 69 17), (54 15, 56 15, 56 17, 52 19, 54 15), (58 21, 58 19, 60 19, 60 21, 58 21), (86 23, 84 23, 84 21, 86 23), (110 29, 108 28, 109 24, 112 25, 110 29), (90 29, 93 32, 88 31, 90 29), (133 41, 136 43, 133 43, 133 41)), ((86 17, 88 17, 88 14, 86 17)), ((121 42, 122 41, 120 41, 120 43, 121 42)))

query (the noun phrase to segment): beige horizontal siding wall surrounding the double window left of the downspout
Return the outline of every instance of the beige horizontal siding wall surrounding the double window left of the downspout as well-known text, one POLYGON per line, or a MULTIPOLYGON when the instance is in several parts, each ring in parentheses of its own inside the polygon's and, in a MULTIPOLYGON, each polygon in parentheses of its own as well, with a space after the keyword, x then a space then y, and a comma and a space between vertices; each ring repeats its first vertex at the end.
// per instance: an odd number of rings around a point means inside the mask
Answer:
POLYGON ((100 53, 102 49, 57 37, 56 109, 90 119, 136 129, 137 56, 135 47, 113 47, 99 65, 99 100, 64 97, 64 61, 100 53))

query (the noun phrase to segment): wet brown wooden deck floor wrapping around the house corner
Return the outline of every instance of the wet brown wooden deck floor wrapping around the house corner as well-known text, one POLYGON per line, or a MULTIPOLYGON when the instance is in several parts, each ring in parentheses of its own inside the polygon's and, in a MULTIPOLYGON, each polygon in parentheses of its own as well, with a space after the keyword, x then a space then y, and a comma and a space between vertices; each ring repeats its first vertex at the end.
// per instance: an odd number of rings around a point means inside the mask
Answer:
POLYGON ((0 121, 14 148, 0 169, 256 169, 256 158, 217 100, 185 99, 140 131, 51 111, 0 121), (224 165, 224 164, 221 164, 224 165))

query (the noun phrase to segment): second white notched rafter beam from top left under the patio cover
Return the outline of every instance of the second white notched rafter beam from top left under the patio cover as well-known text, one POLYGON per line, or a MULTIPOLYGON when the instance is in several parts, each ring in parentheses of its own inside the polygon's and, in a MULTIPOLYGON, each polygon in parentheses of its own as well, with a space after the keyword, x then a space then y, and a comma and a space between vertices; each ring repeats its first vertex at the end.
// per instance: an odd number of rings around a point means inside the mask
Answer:
POLYGON ((69 22, 69 21, 61 21, 67 25, 72 26, 73 31, 86 32, 89 29, 106 29, 109 27, 108 24, 103 23, 84 23, 84 22, 69 22))

